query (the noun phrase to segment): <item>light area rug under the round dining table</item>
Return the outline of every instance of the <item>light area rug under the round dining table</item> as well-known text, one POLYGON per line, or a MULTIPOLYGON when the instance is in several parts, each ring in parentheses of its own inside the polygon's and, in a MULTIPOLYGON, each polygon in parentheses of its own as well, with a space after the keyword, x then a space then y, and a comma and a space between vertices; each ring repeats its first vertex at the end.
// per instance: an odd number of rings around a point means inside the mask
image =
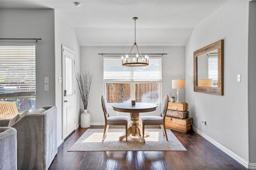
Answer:
POLYGON ((108 129, 105 141, 102 141, 104 129, 88 129, 68 151, 186 151, 170 129, 166 129, 168 141, 160 128, 145 131, 150 136, 145 137, 146 143, 141 143, 138 137, 131 136, 128 142, 119 141, 118 138, 125 134, 124 129, 108 129))

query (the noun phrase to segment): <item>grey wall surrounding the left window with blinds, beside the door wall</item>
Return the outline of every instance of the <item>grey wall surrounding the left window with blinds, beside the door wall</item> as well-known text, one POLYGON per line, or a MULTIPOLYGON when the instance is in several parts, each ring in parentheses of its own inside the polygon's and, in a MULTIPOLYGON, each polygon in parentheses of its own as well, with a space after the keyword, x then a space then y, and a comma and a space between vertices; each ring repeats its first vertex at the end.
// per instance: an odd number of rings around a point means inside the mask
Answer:
POLYGON ((1 38, 42 38, 1 40, 1 43, 36 44, 36 109, 55 106, 54 10, 1 9, 1 38), (49 77, 49 91, 44 91, 49 77))

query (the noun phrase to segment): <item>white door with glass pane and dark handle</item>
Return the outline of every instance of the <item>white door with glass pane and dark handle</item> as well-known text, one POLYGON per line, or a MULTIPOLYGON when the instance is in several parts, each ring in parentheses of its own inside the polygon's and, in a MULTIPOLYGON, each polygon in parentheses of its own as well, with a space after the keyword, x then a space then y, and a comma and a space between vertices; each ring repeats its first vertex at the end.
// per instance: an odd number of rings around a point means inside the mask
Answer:
POLYGON ((62 139, 75 130, 75 52, 62 45, 62 139))

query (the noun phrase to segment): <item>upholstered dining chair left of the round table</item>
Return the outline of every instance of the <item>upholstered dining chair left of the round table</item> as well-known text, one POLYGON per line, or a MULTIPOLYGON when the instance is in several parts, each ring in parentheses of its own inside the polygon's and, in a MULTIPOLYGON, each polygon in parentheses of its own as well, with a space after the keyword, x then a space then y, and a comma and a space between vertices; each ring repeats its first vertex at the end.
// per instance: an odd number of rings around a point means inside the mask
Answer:
POLYGON ((108 103, 107 100, 101 96, 101 103, 102 103, 102 109, 105 117, 105 128, 104 133, 102 137, 102 141, 105 140, 105 137, 108 133, 108 127, 109 125, 125 125, 125 134, 126 134, 126 142, 127 142, 127 129, 128 129, 128 116, 109 116, 108 114, 108 103))

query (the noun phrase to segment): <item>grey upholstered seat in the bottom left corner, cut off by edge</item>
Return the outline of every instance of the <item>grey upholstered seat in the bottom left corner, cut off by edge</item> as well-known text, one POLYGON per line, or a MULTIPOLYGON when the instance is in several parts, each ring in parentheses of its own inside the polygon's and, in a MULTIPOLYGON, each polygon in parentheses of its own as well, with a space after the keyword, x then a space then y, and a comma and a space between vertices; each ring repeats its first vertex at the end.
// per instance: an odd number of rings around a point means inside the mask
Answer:
POLYGON ((17 169, 17 131, 0 127, 0 170, 17 169))

